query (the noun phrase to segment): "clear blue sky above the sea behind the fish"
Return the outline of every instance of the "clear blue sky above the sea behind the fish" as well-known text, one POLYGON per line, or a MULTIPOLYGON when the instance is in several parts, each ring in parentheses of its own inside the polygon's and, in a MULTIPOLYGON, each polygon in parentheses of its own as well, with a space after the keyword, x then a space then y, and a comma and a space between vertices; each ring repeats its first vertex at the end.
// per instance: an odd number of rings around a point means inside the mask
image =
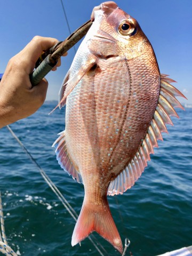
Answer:
MULTIPOLYGON (((63 0, 71 31, 90 19, 98 0, 63 0)), ((192 1, 191 0, 117 0, 121 9, 138 20, 154 47, 161 73, 169 74, 174 84, 192 103, 192 1)), ((9 59, 35 35, 55 37, 69 35, 60 0, 1 1, 0 73, 9 59)), ((76 46, 77 49, 78 45, 76 46)), ((47 100, 57 100, 59 89, 74 58, 74 50, 62 58, 62 66, 46 76, 47 100)))

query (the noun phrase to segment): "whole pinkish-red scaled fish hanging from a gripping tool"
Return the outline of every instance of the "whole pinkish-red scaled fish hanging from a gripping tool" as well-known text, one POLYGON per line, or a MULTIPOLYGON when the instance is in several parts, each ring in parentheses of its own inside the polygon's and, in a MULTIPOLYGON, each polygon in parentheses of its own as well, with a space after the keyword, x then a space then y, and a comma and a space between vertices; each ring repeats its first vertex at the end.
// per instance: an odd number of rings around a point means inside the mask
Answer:
POLYGON ((91 20, 60 89, 66 126, 53 146, 60 166, 84 185, 71 245, 96 231, 122 253, 107 195, 134 185, 170 116, 179 117, 174 108, 184 110, 175 97, 186 97, 160 74, 139 23, 115 2, 95 6, 91 20))

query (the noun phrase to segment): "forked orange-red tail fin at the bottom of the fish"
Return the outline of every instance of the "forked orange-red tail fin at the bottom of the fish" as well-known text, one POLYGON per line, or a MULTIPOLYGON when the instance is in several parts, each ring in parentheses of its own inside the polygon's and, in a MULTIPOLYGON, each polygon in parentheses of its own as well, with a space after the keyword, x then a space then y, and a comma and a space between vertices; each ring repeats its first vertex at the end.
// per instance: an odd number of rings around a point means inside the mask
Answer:
POLYGON ((115 249, 123 253, 123 245, 121 237, 115 226, 115 222, 110 213, 109 205, 106 200, 106 205, 89 207, 89 204, 83 203, 81 213, 72 236, 71 245, 74 246, 80 243, 93 231, 96 231, 100 236, 111 243, 115 249))

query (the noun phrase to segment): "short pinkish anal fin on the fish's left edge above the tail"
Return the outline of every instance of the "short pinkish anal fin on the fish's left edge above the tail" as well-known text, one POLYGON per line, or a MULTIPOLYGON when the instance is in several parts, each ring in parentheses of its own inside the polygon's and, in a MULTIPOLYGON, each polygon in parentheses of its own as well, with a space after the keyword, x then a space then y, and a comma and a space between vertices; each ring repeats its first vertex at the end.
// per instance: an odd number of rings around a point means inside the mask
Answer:
POLYGON ((67 152, 66 141, 65 141, 65 131, 60 132, 58 135, 60 137, 55 140, 52 147, 55 147, 55 153, 57 154, 57 161, 63 170, 72 175, 73 179, 77 180, 79 183, 83 183, 81 174, 77 171, 77 167, 71 161, 70 156, 67 152))

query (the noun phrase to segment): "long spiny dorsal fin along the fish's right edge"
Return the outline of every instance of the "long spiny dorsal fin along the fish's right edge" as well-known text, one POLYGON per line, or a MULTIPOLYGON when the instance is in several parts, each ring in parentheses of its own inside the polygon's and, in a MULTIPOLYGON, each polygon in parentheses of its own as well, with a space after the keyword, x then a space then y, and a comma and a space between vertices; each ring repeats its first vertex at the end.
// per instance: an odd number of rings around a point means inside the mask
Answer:
POLYGON ((141 146, 133 159, 109 184, 107 195, 113 196, 123 194, 127 189, 131 188, 135 181, 141 176, 150 161, 150 154, 154 154, 154 147, 158 147, 157 140, 163 140, 162 132, 167 132, 165 124, 173 125, 170 116, 176 116, 174 107, 185 110, 175 96, 186 98, 178 89, 170 83, 175 82, 168 78, 167 75, 161 75, 161 89, 158 104, 148 128, 146 137, 143 139, 141 146))

